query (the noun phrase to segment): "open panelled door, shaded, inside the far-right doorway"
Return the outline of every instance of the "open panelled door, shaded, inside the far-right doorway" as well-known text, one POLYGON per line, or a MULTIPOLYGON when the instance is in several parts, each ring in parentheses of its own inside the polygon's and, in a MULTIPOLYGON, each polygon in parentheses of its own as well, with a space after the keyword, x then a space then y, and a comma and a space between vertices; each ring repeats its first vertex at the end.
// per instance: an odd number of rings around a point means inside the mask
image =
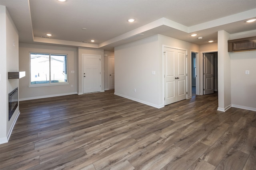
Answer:
POLYGON ((204 54, 204 94, 214 93, 214 55, 204 54))

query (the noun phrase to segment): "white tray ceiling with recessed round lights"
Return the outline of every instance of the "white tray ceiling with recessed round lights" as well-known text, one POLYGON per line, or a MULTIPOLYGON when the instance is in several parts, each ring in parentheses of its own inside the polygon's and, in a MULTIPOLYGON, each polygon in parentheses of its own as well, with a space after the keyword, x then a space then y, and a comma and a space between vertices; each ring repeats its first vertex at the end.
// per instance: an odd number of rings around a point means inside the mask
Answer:
POLYGON ((256 18, 256 0, 0 0, 0 5, 7 7, 20 42, 108 51, 158 33, 203 45, 217 42, 218 30, 256 29, 256 22, 245 22, 256 18), (42 38, 46 33, 52 37, 42 38))

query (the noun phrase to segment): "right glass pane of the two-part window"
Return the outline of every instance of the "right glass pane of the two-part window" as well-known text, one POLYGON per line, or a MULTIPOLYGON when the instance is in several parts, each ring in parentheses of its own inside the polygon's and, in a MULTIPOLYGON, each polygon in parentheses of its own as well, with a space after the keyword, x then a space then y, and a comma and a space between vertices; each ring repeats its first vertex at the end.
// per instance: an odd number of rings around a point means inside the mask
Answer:
POLYGON ((67 82, 66 55, 51 55, 51 83, 67 82))

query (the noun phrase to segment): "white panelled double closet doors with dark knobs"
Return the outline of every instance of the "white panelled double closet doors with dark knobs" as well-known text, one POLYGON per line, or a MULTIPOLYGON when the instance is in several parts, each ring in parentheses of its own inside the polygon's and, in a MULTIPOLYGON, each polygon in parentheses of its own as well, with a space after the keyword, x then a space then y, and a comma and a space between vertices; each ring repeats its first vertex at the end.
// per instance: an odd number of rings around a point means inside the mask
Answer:
POLYGON ((186 51, 164 47, 164 105, 187 97, 186 51))

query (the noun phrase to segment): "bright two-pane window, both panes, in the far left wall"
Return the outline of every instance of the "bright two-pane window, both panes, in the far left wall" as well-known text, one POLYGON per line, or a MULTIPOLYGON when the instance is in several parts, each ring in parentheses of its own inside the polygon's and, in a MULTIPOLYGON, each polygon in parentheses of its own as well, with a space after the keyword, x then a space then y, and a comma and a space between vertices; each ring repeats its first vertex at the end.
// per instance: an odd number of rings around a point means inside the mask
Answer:
POLYGON ((30 53, 30 85, 57 85, 67 79, 67 55, 30 53))

